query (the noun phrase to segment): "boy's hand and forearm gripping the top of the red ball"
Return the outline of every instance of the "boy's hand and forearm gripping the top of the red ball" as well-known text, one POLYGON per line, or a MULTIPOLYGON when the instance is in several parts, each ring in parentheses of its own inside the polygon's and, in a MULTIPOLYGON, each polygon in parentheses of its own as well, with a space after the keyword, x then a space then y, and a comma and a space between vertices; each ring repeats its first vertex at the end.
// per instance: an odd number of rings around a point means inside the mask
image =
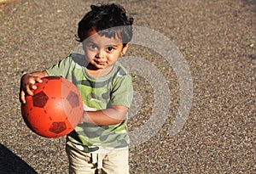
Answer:
POLYGON ((32 89, 37 89, 36 82, 42 82, 41 78, 49 76, 48 73, 43 71, 36 71, 23 75, 20 79, 20 102, 25 104, 25 94, 33 95, 32 89))

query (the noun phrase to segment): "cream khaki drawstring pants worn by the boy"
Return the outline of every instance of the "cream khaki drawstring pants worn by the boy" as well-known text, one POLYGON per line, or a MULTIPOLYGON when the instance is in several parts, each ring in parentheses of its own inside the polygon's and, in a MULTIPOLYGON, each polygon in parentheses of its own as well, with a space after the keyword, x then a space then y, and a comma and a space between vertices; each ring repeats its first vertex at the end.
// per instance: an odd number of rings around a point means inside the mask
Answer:
POLYGON ((129 174, 128 149, 115 149, 107 154, 85 153, 67 141, 66 152, 70 174, 129 174))

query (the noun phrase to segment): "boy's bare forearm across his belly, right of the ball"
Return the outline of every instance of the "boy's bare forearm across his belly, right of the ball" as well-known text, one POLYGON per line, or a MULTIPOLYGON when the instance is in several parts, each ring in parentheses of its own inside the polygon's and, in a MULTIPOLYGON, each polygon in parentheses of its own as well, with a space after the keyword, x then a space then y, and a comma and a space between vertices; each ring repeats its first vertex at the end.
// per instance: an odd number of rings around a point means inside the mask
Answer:
POLYGON ((119 105, 112 107, 113 108, 98 111, 84 111, 80 121, 98 126, 114 125, 124 121, 128 108, 119 105))

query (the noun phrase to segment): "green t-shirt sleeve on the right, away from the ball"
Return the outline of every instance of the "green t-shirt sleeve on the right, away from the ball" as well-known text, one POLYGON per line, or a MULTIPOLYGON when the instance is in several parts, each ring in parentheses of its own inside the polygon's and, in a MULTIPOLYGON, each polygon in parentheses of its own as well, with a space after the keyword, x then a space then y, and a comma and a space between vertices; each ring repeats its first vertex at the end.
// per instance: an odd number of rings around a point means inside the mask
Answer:
POLYGON ((113 89, 111 93, 111 104, 131 107, 131 101, 133 98, 133 87, 131 76, 126 74, 121 77, 117 77, 113 82, 113 89))

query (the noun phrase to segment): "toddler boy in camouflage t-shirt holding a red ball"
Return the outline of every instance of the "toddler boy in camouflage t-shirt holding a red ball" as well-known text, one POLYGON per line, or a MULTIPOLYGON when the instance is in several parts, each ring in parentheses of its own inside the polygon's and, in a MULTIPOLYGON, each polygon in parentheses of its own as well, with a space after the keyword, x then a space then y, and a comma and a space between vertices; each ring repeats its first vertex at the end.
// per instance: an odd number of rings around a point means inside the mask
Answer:
POLYGON ((78 41, 84 55, 73 53, 47 70, 21 77, 20 102, 32 95, 44 76, 63 76, 79 88, 84 114, 67 135, 69 173, 129 173, 127 109, 131 76, 119 62, 129 48, 132 18, 116 4, 91 5, 79 22, 78 41))

